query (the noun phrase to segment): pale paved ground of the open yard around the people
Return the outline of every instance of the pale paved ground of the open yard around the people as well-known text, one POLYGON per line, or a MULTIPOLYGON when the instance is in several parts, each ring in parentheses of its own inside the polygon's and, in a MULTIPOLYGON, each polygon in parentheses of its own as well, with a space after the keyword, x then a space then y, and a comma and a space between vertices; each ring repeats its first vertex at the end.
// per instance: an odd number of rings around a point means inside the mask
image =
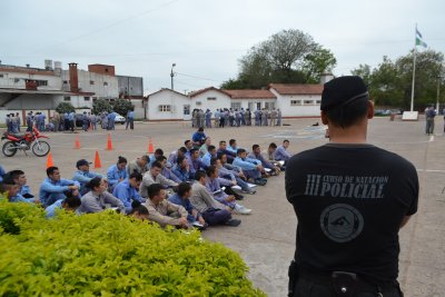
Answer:
MULTIPOLYGON (((308 127, 316 119, 286 121, 284 127, 245 127, 211 129, 208 135, 214 142, 236 138, 240 147, 250 148, 254 142, 261 148, 270 141, 279 143, 284 138, 291 142, 290 151, 298 152, 326 142, 320 127, 308 127)), ((424 121, 388 121, 375 119, 369 127, 369 142, 409 159, 418 169, 421 200, 418 214, 400 231, 400 275, 405 295, 433 297, 445 296, 445 137, 443 121, 437 119, 434 139, 424 135, 424 121)), ((62 177, 70 178, 80 158, 93 160, 99 150, 102 169, 116 162, 118 156, 129 160, 147 151, 148 138, 155 148, 166 152, 182 145, 194 130, 185 123, 139 123, 136 130, 126 131, 117 127, 112 140, 115 150, 106 151, 107 131, 82 132, 79 136, 82 149, 76 150, 75 135, 49 133, 55 165, 61 168, 62 177)), ((13 158, 0 156, 7 169, 23 169, 34 192, 44 178, 46 158, 19 152, 13 158)), ((400 172, 403 175, 403 172, 400 172)), ((238 228, 218 227, 204 234, 205 238, 220 241, 238 251, 250 267, 250 279, 269 296, 286 296, 287 266, 295 249, 296 218, 284 191, 284 176, 270 178, 255 196, 247 196, 244 204, 254 210, 243 216, 238 228)))

